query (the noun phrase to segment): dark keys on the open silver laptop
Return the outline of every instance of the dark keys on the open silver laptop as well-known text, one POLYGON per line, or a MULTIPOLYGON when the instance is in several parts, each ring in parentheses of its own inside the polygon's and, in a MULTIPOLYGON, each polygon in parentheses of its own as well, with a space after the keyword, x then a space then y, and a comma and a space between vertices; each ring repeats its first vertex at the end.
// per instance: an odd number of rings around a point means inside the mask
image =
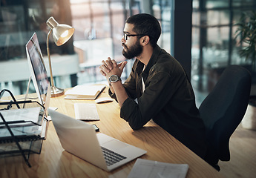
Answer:
POLYGON ((116 154, 114 151, 110 151, 107 148, 101 147, 102 153, 108 166, 114 165, 116 162, 126 159, 125 156, 116 154))

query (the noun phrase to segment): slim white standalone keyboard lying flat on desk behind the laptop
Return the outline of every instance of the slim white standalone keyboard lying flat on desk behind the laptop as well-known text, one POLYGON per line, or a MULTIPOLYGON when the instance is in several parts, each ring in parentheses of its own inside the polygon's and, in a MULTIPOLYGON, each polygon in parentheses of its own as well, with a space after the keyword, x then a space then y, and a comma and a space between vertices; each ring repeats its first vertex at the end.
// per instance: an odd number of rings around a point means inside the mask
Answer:
POLYGON ((75 103, 76 119, 94 121, 99 120, 99 114, 95 104, 91 103, 75 103))

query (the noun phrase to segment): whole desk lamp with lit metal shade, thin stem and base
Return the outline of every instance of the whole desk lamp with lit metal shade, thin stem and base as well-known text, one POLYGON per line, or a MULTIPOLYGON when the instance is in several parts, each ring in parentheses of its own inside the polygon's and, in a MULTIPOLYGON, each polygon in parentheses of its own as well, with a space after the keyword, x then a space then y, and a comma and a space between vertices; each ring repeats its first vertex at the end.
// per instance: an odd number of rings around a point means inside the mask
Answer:
POLYGON ((59 24, 56 22, 53 17, 50 17, 46 24, 50 27, 50 31, 47 34, 47 56, 48 56, 48 61, 49 61, 49 68, 50 68, 50 83, 51 83, 51 96, 56 97, 56 96, 61 96, 64 94, 64 90, 61 88, 56 88, 53 83, 53 72, 52 72, 52 67, 51 67, 51 62, 50 62, 50 49, 49 49, 49 36, 50 33, 53 33, 53 41, 57 46, 61 46, 62 44, 65 44, 65 42, 68 42, 68 40, 71 38, 74 32, 74 28, 70 27, 68 24, 59 24))

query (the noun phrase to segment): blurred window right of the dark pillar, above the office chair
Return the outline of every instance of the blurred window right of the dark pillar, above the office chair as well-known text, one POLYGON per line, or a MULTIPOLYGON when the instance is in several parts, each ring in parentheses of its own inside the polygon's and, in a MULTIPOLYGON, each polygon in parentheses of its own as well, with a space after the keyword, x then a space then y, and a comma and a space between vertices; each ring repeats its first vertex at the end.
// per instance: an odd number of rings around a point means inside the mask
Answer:
POLYGON ((191 82, 196 90, 209 93, 228 65, 252 70, 238 54, 234 24, 243 12, 255 9, 255 0, 193 1, 191 82))

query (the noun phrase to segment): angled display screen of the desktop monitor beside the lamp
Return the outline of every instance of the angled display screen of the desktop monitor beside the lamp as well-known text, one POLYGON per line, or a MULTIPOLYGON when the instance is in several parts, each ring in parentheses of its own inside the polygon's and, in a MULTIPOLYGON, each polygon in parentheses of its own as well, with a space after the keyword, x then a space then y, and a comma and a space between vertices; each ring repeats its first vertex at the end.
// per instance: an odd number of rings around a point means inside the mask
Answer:
POLYGON ((33 33, 33 36, 27 42, 26 52, 33 85, 39 97, 39 102, 44 105, 49 81, 36 33, 33 33))

